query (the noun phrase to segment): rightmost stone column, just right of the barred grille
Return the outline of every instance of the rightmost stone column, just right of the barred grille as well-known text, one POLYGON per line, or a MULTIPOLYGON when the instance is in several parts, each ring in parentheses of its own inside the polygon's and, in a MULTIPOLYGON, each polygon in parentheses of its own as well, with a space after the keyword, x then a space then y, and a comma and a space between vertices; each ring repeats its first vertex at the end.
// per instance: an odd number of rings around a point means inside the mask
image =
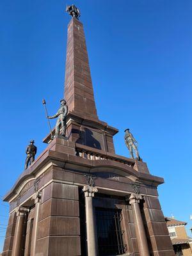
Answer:
POLYGON ((129 197, 129 204, 131 204, 132 213, 134 216, 134 223, 136 225, 136 237, 138 240, 140 256, 149 256, 147 237, 145 234, 145 228, 143 225, 143 220, 140 211, 140 200, 142 198, 143 197, 141 195, 133 193, 129 197))

